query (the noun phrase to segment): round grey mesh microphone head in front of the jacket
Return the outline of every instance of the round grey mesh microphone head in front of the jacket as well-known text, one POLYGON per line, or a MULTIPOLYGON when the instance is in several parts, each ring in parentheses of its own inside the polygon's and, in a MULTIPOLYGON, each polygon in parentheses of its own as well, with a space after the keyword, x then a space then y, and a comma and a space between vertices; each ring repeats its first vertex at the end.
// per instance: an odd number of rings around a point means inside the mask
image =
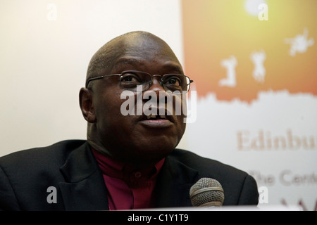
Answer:
POLYGON ((211 178, 201 178, 189 190, 190 200, 193 206, 221 207, 225 194, 221 184, 211 178))

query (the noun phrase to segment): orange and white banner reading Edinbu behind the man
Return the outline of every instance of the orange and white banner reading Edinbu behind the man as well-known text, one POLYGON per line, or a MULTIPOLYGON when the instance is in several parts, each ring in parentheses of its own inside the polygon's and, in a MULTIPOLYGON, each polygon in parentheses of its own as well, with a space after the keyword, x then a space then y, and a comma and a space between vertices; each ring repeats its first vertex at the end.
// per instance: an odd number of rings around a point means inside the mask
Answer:
POLYGON ((249 172, 261 204, 316 210, 316 8, 182 1, 185 70, 198 96, 188 148, 249 172))

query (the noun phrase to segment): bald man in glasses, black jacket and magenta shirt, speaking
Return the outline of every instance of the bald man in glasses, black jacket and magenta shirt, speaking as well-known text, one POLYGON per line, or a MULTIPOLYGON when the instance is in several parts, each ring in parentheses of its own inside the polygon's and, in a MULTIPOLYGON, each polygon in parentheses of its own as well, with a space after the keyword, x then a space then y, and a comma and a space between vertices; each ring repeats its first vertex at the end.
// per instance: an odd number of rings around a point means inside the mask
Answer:
POLYGON ((61 141, 0 158, 0 209, 189 207, 189 188, 201 177, 220 182, 223 205, 256 205, 251 176, 175 149, 185 131, 185 112, 170 112, 166 105, 185 104, 191 82, 168 44, 154 34, 130 32, 109 41, 92 57, 80 89, 87 141, 61 141), (128 98, 135 108, 123 107, 128 98), (144 111, 148 101, 151 113, 144 111))

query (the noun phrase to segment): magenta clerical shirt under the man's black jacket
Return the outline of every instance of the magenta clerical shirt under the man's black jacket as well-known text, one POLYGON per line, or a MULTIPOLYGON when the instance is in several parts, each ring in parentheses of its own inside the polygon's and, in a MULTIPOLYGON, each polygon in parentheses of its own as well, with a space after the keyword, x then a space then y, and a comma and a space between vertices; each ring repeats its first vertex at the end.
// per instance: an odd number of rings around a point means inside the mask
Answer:
POLYGON ((154 187, 164 160, 153 167, 137 170, 92 149, 108 190, 109 210, 155 207, 154 187))

